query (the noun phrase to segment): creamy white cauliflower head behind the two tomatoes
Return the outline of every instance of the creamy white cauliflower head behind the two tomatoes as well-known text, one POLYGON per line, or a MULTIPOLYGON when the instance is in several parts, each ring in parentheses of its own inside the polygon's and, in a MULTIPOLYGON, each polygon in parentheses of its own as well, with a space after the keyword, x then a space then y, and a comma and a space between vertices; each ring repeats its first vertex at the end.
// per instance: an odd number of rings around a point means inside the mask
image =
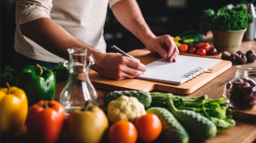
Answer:
POLYGON ((115 123, 119 120, 134 122, 138 117, 146 114, 145 107, 136 97, 121 95, 108 104, 108 120, 115 123))

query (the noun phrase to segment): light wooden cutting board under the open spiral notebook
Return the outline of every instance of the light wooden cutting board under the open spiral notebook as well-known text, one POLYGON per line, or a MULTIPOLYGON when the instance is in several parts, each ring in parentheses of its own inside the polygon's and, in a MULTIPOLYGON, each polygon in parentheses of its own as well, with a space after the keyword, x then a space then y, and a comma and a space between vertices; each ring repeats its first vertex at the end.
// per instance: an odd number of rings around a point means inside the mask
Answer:
MULTIPOLYGON (((147 49, 136 49, 130 51, 128 54, 140 59, 141 63, 145 65, 161 58, 158 54, 151 53, 147 49)), ((194 79, 181 85, 166 84, 137 78, 123 80, 106 79, 94 70, 89 71, 89 77, 96 88, 105 90, 143 90, 146 92, 160 90, 182 95, 189 95, 221 73, 231 68, 231 66, 232 63, 230 61, 223 60, 211 68, 211 70, 213 70, 212 73, 203 73, 202 75, 195 77, 194 79)))

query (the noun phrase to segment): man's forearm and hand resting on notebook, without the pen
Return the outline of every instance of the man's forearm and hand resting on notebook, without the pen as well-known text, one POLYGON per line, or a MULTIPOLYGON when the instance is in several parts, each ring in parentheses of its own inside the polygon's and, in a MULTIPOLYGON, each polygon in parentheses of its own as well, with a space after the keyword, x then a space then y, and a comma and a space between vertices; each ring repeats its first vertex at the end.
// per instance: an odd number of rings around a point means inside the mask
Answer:
POLYGON ((154 53, 175 62, 179 50, 170 35, 155 36, 143 18, 136 0, 121 0, 111 7, 117 20, 154 53))

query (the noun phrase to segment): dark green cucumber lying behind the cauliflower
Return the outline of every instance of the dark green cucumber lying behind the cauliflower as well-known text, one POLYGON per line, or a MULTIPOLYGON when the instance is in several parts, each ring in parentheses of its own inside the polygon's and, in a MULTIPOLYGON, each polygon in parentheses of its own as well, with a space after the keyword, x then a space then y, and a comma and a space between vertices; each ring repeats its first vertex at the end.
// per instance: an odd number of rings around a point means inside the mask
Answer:
POLYGON ((105 95, 103 98, 104 105, 107 107, 110 101, 117 99, 121 95, 136 97, 139 100, 139 102, 141 102, 144 105, 145 108, 148 108, 152 101, 149 92, 145 92, 142 90, 121 90, 112 91, 105 95))

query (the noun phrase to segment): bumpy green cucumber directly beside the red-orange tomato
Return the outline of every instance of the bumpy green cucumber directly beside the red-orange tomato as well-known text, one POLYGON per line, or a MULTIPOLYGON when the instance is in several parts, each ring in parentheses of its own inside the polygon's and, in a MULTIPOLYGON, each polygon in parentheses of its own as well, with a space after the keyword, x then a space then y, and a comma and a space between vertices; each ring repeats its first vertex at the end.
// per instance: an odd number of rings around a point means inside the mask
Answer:
POLYGON ((166 108, 150 107, 147 113, 157 115, 162 123, 162 134, 170 143, 188 143, 189 134, 166 108))

